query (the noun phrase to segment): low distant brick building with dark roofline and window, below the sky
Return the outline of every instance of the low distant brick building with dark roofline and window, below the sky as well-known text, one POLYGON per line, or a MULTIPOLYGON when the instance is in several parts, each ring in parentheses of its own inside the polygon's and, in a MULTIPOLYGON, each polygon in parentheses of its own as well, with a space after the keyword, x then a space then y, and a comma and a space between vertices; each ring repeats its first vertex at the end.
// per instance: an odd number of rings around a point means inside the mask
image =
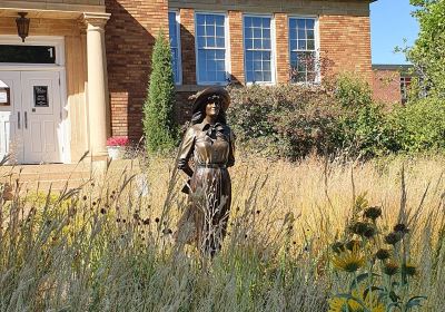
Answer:
POLYGON ((405 104, 412 78, 412 65, 373 65, 374 99, 405 104))

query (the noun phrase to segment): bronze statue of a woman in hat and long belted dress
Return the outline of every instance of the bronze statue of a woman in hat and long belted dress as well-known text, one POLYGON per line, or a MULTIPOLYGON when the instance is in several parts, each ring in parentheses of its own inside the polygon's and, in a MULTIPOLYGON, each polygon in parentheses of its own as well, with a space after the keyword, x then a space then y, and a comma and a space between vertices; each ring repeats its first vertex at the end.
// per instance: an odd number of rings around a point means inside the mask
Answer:
POLYGON ((178 224, 177 240, 195 241, 202 253, 212 256, 226 235, 231 202, 227 168, 235 164, 235 142, 226 121, 230 97, 224 88, 210 87, 194 98, 191 126, 184 137, 178 162, 179 169, 190 179, 182 189, 189 194, 189 201, 178 224))

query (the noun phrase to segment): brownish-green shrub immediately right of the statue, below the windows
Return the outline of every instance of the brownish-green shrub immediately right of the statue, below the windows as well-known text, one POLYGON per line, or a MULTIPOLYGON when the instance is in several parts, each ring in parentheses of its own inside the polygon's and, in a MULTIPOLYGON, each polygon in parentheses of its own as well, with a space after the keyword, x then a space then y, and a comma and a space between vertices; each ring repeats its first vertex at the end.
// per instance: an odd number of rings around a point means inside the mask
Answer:
POLYGON ((322 152, 329 140, 337 109, 323 87, 253 86, 230 94, 229 123, 250 152, 296 159, 322 152))

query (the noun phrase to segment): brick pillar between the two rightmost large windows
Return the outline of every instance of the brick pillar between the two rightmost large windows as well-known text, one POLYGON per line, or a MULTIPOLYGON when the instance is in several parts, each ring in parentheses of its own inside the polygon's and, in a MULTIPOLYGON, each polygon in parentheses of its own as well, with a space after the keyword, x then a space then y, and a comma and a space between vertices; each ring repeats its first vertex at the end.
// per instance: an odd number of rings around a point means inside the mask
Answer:
POLYGON ((275 13, 277 82, 289 81, 289 27, 286 13, 275 13))

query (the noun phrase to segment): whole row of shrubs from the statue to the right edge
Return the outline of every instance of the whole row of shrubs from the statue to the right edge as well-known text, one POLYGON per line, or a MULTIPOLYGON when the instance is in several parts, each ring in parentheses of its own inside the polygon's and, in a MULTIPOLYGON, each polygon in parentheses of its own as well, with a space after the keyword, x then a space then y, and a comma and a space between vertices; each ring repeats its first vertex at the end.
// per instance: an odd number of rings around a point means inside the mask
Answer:
POLYGON ((445 148, 445 104, 415 99, 387 109, 350 75, 320 86, 230 89, 229 123, 241 149, 298 159, 328 154, 370 158, 445 148))

